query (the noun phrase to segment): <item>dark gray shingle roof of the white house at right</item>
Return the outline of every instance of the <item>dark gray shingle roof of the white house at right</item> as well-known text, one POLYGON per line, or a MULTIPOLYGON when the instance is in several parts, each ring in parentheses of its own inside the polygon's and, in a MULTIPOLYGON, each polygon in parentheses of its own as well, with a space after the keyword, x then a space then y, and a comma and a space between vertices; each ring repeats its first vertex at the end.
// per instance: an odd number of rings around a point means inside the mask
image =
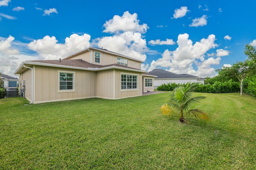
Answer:
POLYGON ((152 71, 149 71, 150 74, 156 75, 157 77, 155 79, 178 79, 178 78, 200 78, 194 75, 190 74, 176 74, 172 73, 170 71, 165 71, 163 69, 153 69, 152 71))

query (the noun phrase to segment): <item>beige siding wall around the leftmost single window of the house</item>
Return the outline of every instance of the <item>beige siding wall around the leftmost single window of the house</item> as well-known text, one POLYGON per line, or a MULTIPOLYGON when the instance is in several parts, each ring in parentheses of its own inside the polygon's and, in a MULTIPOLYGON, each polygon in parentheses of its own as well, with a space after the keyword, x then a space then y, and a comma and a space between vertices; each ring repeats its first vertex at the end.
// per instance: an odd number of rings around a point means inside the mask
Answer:
POLYGON ((96 96, 95 77, 92 71, 64 69, 57 67, 35 67, 34 103, 85 99, 96 96), (58 71, 73 71, 75 92, 58 93, 58 71))

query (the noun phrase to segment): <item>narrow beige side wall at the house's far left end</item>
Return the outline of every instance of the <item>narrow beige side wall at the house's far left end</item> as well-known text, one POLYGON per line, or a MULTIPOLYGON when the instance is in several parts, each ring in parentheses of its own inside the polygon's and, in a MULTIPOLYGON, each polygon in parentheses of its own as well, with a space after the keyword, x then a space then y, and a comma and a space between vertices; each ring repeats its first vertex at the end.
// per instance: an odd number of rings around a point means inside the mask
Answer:
MULTIPOLYGON (((32 100, 32 70, 26 69, 24 72, 20 74, 20 83, 22 80, 25 80, 25 98, 31 102, 32 100)), ((20 88, 24 88, 21 85, 20 88)))

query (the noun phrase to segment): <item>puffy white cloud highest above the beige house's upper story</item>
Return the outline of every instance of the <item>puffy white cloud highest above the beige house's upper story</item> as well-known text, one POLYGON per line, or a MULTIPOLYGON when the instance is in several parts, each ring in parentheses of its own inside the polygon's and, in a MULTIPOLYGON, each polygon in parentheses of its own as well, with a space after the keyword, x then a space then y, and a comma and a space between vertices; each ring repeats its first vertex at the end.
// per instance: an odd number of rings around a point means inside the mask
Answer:
POLYGON ((119 32, 139 32, 146 33, 149 28, 147 24, 139 24, 138 15, 124 12, 123 16, 115 15, 111 20, 106 21, 103 25, 103 32, 119 33, 119 32))

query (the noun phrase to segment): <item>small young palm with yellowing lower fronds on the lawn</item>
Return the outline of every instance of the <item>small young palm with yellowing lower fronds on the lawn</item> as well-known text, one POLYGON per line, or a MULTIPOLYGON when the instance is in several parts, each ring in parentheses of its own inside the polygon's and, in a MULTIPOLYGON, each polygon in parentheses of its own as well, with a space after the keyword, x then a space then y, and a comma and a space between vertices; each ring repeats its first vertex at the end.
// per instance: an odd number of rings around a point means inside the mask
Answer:
POLYGON ((161 112, 164 115, 172 115, 177 113, 180 117, 180 122, 186 122, 184 116, 194 116, 199 119, 209 120, 208 115, 199 109, 190 109, 192 105, 205 99, 204 96, 192 97, 192 91, 196 89, 198 83, 186 83, 182 86, 176 87, 170 95, 169 102, 162 105, 161 112), (190 110, 189 110, 190 109, 190 110))

